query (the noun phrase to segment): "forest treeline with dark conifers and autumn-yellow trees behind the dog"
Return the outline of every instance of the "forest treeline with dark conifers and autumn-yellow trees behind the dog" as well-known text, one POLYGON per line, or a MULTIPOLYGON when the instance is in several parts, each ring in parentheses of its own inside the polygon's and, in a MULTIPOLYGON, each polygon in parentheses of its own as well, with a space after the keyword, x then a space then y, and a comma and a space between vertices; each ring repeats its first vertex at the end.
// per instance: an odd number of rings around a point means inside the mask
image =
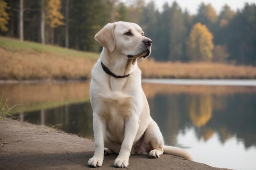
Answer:
POLYGON ((144 0, 0 0, 0 35, 72 49, 101 51, 94 35, 119 20, 144 29, 155 60, 256 65, 255 4, 217 14, 201 3, 191 15, 177 2, 159 11, 144 0))

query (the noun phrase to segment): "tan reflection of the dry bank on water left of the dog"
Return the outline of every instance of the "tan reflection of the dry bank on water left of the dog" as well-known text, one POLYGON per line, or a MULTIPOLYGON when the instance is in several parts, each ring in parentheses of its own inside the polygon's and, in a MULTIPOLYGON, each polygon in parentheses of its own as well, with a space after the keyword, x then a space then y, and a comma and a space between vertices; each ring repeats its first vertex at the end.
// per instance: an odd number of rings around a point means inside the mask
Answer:
POLYGON ((90 82, 0 83, 11 114, 89 101, 90 82))

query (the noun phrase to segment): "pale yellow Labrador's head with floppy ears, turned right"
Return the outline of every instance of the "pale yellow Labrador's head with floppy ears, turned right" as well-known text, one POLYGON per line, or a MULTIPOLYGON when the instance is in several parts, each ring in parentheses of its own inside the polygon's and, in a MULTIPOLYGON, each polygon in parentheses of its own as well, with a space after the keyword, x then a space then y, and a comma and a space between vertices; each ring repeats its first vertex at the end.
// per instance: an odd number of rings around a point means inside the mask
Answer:
POLYGON ((145 37, 141 27, 135 23, 109 23, 94 38, 108 51, 121 53, 129 59, 150 55, 152 40, 145 37))

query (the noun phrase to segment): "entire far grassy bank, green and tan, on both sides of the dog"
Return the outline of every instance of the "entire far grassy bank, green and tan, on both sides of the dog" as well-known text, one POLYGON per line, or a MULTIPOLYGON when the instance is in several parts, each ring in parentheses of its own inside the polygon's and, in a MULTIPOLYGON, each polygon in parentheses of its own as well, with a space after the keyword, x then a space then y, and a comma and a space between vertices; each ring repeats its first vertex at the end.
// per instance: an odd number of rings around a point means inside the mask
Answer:
MULTIPOLYGON (((0 37, 0 80, 88 79, 99 54, 0 37)), ((139 60, 143 78, 256 78, 256 67, 139 60)))

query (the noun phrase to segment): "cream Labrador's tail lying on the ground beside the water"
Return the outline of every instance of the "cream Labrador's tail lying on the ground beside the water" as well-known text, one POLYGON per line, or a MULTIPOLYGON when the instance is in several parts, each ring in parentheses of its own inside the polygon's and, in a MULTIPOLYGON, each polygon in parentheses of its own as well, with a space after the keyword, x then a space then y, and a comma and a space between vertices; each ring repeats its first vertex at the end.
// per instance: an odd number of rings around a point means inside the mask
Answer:
POLYGON ((172 154, 174 156, 182 157, 182 158, 185 158, 187 160, 193 161, 193 157, 191 156, 191 154, 189 154, 189 152, 186 152, 185 150, 183 150, 181 148, 164 145, 164 153, 165 154, 172 154))

